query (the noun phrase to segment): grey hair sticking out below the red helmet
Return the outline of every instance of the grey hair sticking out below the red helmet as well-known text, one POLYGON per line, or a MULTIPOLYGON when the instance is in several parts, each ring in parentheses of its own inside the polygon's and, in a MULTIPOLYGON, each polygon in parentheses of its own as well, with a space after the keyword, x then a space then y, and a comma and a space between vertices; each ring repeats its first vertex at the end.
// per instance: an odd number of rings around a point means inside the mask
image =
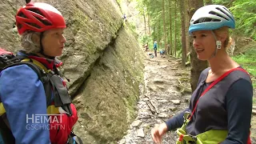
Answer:
POLYGON ((36 42, 37 38, 40 38, 38 32, 28 31, 22 34, 22 47, 27 53, 38 53, 40 51, 40 42, 36 42))

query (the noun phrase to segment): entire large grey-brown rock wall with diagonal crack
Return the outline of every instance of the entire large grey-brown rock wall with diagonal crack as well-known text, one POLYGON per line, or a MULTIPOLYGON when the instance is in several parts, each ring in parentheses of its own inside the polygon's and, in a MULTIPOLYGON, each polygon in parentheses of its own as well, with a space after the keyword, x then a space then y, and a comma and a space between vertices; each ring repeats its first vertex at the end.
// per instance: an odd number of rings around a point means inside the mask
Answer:
MULTIPOLYGON (((78 109, 74 132, 85 143, 122 138, 134 119, 143 79, 142 50, 122 26, 114 0, 34 0, 47 2, 66 18, 66 48, 60 59, 70 95, 78 109)), ((25 0, 0 2, 0 47, 19 50, 14 15, 25 0)))

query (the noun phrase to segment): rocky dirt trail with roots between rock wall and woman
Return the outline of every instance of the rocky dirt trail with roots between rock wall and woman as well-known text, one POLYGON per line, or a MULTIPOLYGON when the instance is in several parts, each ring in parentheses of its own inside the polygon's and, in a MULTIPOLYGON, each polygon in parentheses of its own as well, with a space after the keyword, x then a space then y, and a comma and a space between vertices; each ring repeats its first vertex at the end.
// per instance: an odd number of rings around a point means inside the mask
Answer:
MULTIPOLYGON (((166 121, 188 106, 190 94, 181 94, 177 89, 179 78, 190 78, 190 70, 182 69, 177 58, 146 56, 145 90, 142 88, 138 101, 138 117, 130 125, 127 135, 118 142, 119 144, 153 143, 150 130, 154 125, 166 121)), ((186 82, 186 86, 189 86, 189 82, 186 82)), ((175 139, 176 134, 169 132, 162 143, 174 143, 175 139)))

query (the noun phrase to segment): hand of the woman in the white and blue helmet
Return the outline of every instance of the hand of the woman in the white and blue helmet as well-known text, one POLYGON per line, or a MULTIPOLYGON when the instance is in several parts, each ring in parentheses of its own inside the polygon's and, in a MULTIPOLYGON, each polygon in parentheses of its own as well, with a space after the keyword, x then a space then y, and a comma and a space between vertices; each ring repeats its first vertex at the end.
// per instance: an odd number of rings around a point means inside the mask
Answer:
POLYGON ((151 130, 151 136, 153 138, 153 141, 155 143, 161 143, 162 135, 166 134, 166 132, 167 132, 167 126, 165 122, 160 125, 154 126, 154 128, 151 130))

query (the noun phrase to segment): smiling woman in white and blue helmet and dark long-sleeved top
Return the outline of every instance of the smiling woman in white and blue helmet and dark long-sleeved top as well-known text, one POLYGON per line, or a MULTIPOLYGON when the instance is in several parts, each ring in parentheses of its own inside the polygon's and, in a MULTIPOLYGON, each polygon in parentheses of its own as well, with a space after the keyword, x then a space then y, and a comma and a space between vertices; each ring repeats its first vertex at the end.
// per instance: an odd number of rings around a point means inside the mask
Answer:
POLYGON ((234 17, 225 6, 203 6, 194 13, 189 28, 194 50, 210 67, 202 71, 189 108, 151 131, 154 142, 181 127, 176 131, 177 144, 251 143, 252 83, 246 70, 226 53, 229 28, 234 27, 234 17))

